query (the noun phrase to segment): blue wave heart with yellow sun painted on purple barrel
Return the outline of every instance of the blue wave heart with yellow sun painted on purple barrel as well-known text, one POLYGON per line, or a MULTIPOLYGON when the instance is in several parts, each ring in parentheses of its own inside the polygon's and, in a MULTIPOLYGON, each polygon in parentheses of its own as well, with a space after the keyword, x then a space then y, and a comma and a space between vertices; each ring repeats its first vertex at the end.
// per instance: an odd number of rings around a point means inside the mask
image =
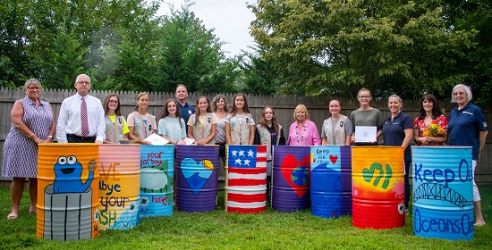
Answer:
POLYGON ((209 160, 195 162, 191 158, 184 158, 181 161, 182 176, 195 195, 199 195, 201 188, 205 186, 207 180, 214 171, 214 165, 209 160))

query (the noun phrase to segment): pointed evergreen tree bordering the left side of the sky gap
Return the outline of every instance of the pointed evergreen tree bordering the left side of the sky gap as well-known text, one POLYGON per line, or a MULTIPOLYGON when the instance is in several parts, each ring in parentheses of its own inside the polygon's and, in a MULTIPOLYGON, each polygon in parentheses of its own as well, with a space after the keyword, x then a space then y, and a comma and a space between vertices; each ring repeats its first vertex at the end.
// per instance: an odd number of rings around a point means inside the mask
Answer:
POLYGON ((238 65, 226 60, 221 50, 224 43, 214 35, 213 29, 205 28, 190 6, 185 2, 179 11, 172 8, 171 15, 164 19, 153 87, 156 91, 168 91, 184 84, 190 92, 232 92, 233 79, 227 74, 233 73, 238 65))

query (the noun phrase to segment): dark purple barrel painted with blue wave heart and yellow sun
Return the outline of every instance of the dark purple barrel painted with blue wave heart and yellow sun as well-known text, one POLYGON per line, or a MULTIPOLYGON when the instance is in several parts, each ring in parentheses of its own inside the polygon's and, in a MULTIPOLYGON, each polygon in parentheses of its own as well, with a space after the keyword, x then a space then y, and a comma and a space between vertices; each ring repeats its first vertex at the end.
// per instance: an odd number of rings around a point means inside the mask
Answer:
POLYGON ((176 206, 184 212, 216 209, 218 146, 176 146, 176 206))

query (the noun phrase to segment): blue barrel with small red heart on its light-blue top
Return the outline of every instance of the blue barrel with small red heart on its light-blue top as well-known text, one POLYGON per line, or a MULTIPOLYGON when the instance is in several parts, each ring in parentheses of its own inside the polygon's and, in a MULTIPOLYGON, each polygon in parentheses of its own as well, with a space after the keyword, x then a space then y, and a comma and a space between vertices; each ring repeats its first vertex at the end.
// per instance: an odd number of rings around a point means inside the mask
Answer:
POLYGON ((311 146, 311 213, 324 218, 352 215, 350 146, 311 146))

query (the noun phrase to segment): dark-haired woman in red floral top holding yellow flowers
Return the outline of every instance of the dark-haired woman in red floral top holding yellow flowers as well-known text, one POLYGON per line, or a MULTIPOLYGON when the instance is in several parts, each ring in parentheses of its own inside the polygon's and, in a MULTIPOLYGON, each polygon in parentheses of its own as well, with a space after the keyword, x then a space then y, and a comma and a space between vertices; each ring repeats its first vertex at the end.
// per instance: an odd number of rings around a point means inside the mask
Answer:
POLYGON ((447 118, 436 96, 426 94, 420 100, 420 114, 413 121, 414 140, 419 146, 442 146, 447 141, 447 118))

